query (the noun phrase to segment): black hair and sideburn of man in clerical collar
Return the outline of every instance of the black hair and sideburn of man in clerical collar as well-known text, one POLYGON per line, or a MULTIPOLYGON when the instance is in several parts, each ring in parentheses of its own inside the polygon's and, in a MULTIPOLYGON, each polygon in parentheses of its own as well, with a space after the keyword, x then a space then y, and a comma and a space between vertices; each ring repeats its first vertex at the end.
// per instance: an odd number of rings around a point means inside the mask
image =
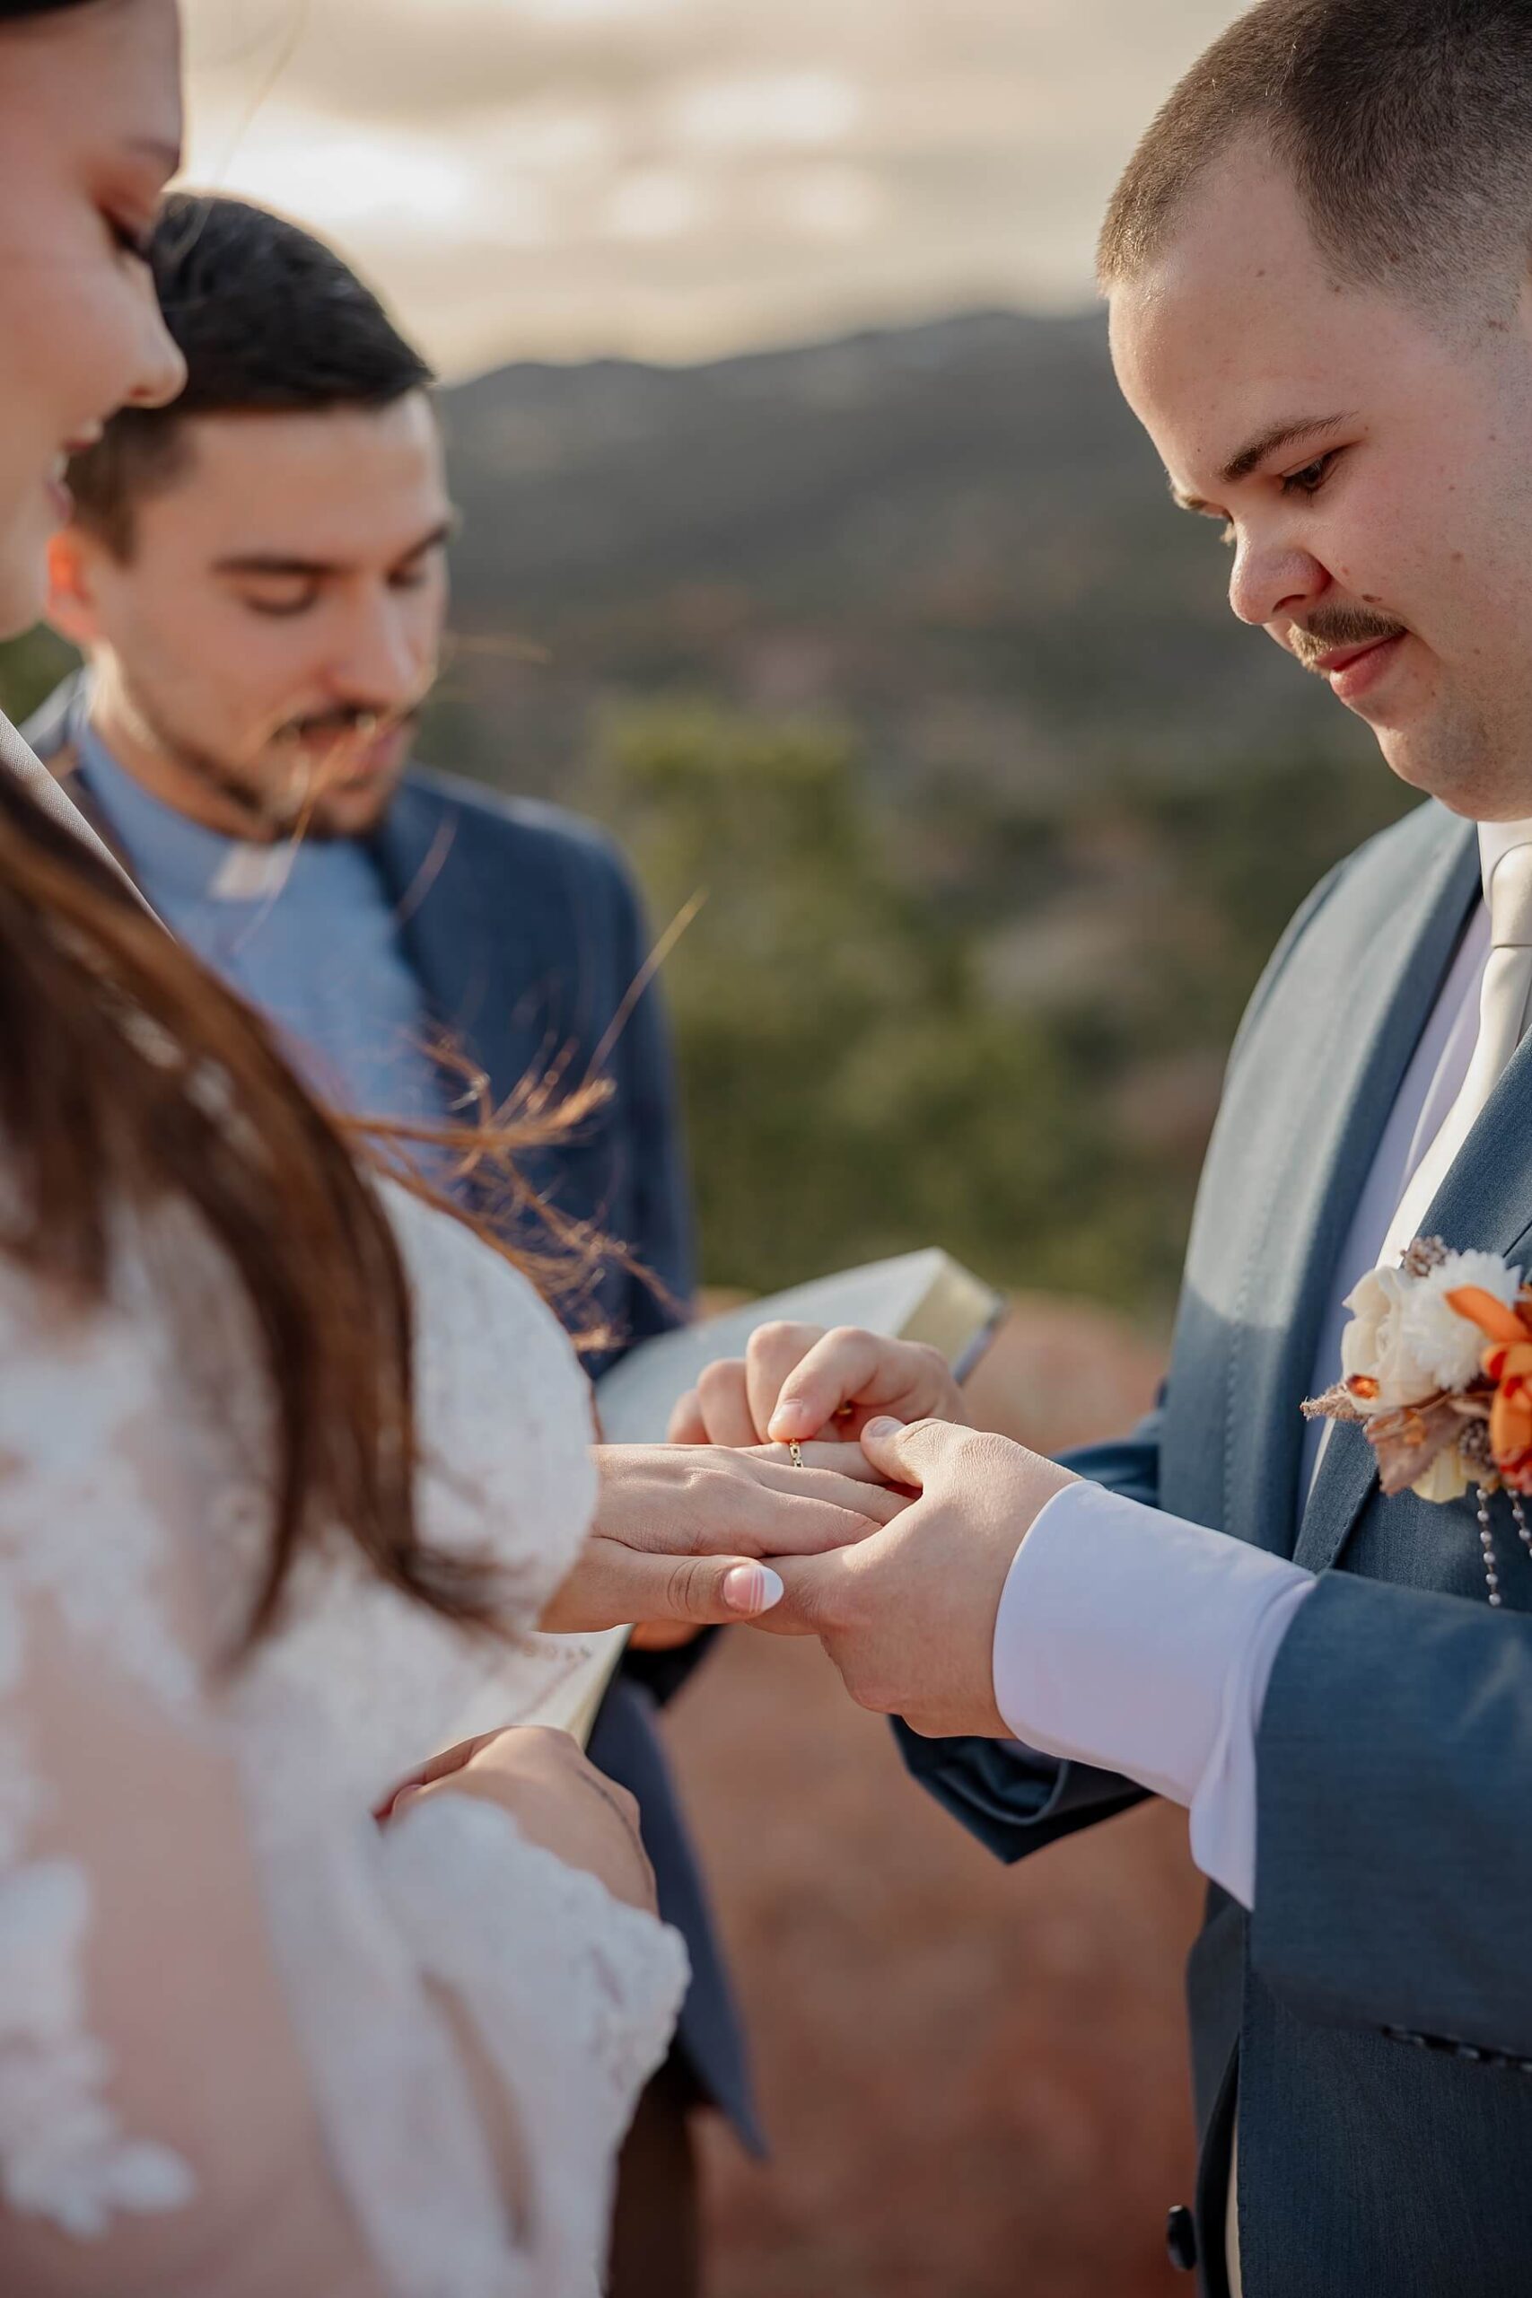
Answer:
POLYGON ((436 379, 333 248, 250 200, 172 193, 149 269, 186 388, 170 407, 124 407, 69 466, 80 526, 119 558, 133 508, 191 466, 188 416, 393 407, 436 379))

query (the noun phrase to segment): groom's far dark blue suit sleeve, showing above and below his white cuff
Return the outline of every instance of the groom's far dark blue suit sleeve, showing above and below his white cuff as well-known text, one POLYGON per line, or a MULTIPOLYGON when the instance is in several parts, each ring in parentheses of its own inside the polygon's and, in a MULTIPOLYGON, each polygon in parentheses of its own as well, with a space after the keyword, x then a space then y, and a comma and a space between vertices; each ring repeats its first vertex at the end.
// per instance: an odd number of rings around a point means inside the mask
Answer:
MULTIPOLYGON (((1162 1402, 1130 1436, 1063 1452, 1063 1466, 1158 1507, 1162 1402)), ((1144 1788, 1116 1772, 1059 1763, 1015 1740, 923 1740, 898 1719, 893 1737, 910 1776, 1008 1864, 1144 1802, 1144 1788)))

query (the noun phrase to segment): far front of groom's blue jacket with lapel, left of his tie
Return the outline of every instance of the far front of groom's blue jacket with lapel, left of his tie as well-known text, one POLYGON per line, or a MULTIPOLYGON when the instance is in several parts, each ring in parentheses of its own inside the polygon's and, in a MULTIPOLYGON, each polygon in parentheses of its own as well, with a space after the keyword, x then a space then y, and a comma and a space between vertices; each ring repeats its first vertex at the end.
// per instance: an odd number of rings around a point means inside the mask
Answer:
POLYGON ((1475 871, 1472 827, 1438 807, 1364 850, 1279 961, 1231 1062, 1187 1250, 1160 1498, 1282 1556, 1334 1262, 1475 871))

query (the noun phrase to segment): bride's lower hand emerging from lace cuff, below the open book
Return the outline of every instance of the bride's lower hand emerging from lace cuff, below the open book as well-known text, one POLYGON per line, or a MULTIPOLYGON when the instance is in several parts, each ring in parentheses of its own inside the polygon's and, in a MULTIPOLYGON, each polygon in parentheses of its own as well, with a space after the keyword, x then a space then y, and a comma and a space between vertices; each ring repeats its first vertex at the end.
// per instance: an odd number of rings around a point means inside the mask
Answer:
POLYGON ((531 1843, 586 1868, 613 1898, 655 1914, 655 1871, 639 1806, 581 1753, 567 1730, 519 1724, 462 1740, 395 1788, 386 1818, 436 1795, 478 1795, 510 1811, 531 1843))

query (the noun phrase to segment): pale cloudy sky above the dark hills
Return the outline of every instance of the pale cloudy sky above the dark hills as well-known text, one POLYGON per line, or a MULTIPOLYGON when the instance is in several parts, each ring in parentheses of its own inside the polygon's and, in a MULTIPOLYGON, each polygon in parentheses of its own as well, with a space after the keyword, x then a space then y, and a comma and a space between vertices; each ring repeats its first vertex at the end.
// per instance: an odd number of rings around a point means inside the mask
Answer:
POLYGON ((1236 0, 188 0, 191 179, 335 237, 448 375, 1075 308, 1236 0))

